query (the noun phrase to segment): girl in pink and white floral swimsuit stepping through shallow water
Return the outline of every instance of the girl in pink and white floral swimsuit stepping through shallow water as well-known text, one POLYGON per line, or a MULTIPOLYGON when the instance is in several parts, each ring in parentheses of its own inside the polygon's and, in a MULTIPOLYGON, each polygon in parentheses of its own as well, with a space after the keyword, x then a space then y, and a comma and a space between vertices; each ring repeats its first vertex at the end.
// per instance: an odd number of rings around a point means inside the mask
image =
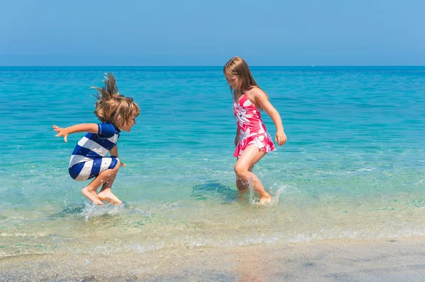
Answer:
POLYGON ((275 140, 279 146, 286 142, 282 120, 278 111, 271 105, 267 94, 259 88, 252 77, 246 61, 240 57, 230 59, 223 70, 230 92, 233 95, 233 112, 236 117, 237 131, 234 139, 234 165, 237 189, 248 189, 249 184, 260 196, 260 204, 268 204, 271 196, 264 190, 263 184, 252 170, 254 165, 266 153, 276 150, 271 135, 261 119, 263 109, 276 125, 275 140))

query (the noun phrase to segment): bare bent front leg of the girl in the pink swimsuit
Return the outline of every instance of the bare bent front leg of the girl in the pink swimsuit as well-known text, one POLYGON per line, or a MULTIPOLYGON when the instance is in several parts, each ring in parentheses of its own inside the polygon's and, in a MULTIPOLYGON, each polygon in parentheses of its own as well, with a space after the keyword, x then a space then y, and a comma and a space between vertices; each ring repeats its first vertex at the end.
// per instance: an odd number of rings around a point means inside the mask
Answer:
POLYGON ((260 151, 259 148, 248 146, 234 165, 234 172, 236 172, 237 179, 242 182, 242 185, 246 185, 246 187, 251 182, 252 188, 260 195, 261 204, 269 203, 271 196, 266 192, 259 178, 249 169, 254 167, 264 155, 266 155, 266 152, 260 151))

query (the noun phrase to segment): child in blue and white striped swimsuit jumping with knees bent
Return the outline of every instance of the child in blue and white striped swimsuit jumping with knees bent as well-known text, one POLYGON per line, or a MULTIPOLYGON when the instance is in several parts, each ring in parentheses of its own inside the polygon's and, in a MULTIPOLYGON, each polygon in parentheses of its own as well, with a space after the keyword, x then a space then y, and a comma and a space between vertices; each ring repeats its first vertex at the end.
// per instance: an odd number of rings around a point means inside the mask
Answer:
POLYGON ((56 137, 67 136, 76 132, 88 132, 74 148, 69 160, 69 175, 74 180, 94 180, 82 189, 84 196, 94 204, 102 205, 103 201, 110 204, 123 204, 111 192, 113 181, 120 166, 125 166, 118 158, 116 146, 120 131, 130 131, 136 124, 135 118, 140 114, 139 106, 132 98, 124 97, 118 92, 113 74, 105 76, 105 86, 98 90, 96 110, 94 114, 101 123, 76 124, 72 127, 61 128, 53 125, 58 132, 56 137), (110 156, 106 157, 109 153, 110 156), (98 187, 102 186, 97 194, 98 187))

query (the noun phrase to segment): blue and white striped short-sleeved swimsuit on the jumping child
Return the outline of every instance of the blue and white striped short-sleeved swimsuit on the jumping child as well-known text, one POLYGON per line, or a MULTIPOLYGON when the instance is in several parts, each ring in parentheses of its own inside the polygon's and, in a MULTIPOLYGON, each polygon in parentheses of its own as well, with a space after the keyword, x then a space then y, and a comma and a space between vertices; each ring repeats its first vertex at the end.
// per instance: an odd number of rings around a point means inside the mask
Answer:
POLYGON ((69 160, 69 175, 74 180, 89 180, 115 168, 117 157, 105 158, 105 155, 116 146, 118 137, 120 130, 113 124, 98 124, 98 134, 86 134, 75 146, 69 160))

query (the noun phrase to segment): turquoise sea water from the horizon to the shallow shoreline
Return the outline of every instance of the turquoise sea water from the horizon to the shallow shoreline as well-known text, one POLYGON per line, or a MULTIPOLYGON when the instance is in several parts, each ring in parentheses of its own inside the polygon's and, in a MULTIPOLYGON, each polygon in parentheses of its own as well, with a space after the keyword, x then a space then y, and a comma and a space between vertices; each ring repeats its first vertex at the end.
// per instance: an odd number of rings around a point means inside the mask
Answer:
MULTIPOLYGON (((253 67, 288 142, 234 183, 236 123, 221 67, 1 67, 0 257, 140 254, 425 235, 425 67, 253 67), (67 167, 112 71, 141 114, 118 141, 113 192, 93 206, 67 167)), ((263 112, 268 131, 273 122, 263 112)))

